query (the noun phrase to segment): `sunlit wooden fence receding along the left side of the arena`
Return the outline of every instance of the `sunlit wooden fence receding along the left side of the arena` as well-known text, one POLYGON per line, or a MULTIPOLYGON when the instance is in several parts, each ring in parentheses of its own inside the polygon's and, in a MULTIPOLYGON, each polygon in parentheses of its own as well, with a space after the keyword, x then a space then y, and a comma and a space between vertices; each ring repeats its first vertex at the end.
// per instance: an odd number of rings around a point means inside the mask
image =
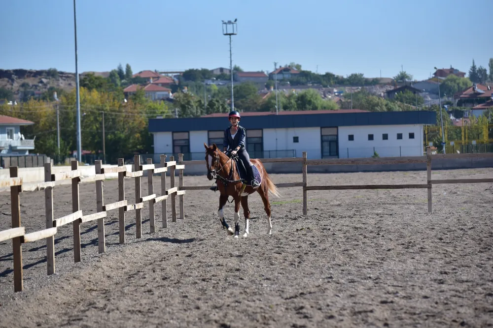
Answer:
MULTIPOLYGON (((81 178, 81 172, 78 169, 78 162, 71 162, 71 171, 52 174, 51 163, 44 164, 45 182, 39 183, 40 188, 44 188, 45 211, 46 211, 46 229, 26 234, 25 228, 21 226, 20 216, 20 193, 22 192, 22 179, 18 177, 18 168, 10 167, 10 179, 1 179, 0 187, 10 186, 10 197, 12 207, 12 226, 11 229, 0 231, 0 241, 12 239, 13 260, 14 260, 14 291, 23 290, 23 272, 22 272, 22 244, 40 239, 46 239, 46 262, 48 275, 55 272, 55 235, 57 228, 65 224, 72 223, 73 227, 73 258, 74 262, 80 262, 80 225, 86 222, 97 220, 98 224, 98 248, 99 253, 106 251, 105 245, 105 217, 106 212, 112 209, 118 209, 119 220, 119 237, 120 243, 125 243, 125 212, 130 210, 136 211, 136 238, 141 238, 142 234, 142 216, 141 209, 145 202, 149 204, 149 224, 150 232, 156 230, 156 220, 154 216, 155 205, 162 203, 163 211, 163 228, 168 227, 167 200, 171 198, 172 222, 176 222, 176 196, 179 196, 179 218, 184 218, 183 195, 183 165, 177 165, 174 156, 170 156, 170 161, 166 161, 166 155, 161 155, 161 165, 158 167, 152 164, 152 159, 148 158, 147 163, 141 165, 140 156, 134 157, 134 168, 132 172, 127 171, 123 163, 123 158, 118 159, 118 166, 102 168, 101 160, 95 162, 96 174, 93 176, 81 178), (178 170, 178 186, 175 182, 175 171, 178 170), (141 177, 143 172, 148 171, 147 183, 149 195, 141 196, 141 177), (166 189, 166 172, 170 176, 170 189, 166 189), (109 173, 118 173, 118 202, 105 204, 103 193, 103 180, 109 173), (154 192, 153 174, 161 173, 161 196, 154 192), (125 198, 125 178, 135 179, 135 203, 125 198), (72 213, 60 218, 53 216, 53 187, 59 181, 71 179, 72 181, 72 213), (84 215, 83 210, 79 208, 79 183, 86 181, 96 182, 96 207, 97 212, 84 215)), ((180 154, 181 158, 181 154, 180 154)))

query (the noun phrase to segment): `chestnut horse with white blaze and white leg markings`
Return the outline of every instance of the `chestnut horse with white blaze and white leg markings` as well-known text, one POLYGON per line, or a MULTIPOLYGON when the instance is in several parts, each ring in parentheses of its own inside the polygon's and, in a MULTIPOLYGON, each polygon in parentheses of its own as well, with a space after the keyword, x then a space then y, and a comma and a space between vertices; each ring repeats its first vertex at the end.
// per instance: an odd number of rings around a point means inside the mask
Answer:
MULTIPOLYGON (((241 165, 241 160, 238 159, 238 164, 233 165, 233 157, 229 157, 226 153, 217 148, 215 144, 208 147, 204 143, 206 149, 206 166, 207 166, 207 178, 209 180, 216 179, 217 189, 220 192, 219 196, 219 209, 217 215, 221 222, 223 229, 227 230, 229 235, 235 235, 238 238, 240 235, 240 204, 243 208, 243 215, 245 216, 245 233, 243 237, 247 237, 250 233, 248 230, 248 220, 250 218, 250 211, 248 209, 248 195, 251 195, 255 191, 258 192, 262 202, 264 203, 264 210, 267 214, 267 234, 272 235, 272 222, 271 222, 271 205, 269 204, 269 191, 276 197, 280 197, 278 188, 269 178, 264 165, 258 159, 250 158, 250 162, 255 165, 260 173, 261 182, 257 188, 253 188, 251 185, 240 179, 240 175, 237 170, 237 165, 241 165), (231 229, 226 222, 223 214, 223 207, 228 202, 229 196, 233 196, 235 201, 235 230, 231 229)), ((236 155, 238 157, 238 155, 236 155)))

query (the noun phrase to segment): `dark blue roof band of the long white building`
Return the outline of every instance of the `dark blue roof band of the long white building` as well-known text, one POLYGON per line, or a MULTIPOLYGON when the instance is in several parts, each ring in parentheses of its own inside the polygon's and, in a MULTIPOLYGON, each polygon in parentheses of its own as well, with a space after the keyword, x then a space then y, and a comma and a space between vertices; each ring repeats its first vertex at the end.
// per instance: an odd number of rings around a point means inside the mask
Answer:
MULTIPOLYGON (((436 124, 433 111, 409 112, 356 112, 318 111, 317 114, 283 114, 248 116, 241 115, 241 125, 247 129, 274 129, 288 127, 336 127, 355 125, 399 125, 436 124)), ((227 114, 221 117, 202 117, 186 119, 149 119, 149 132, 212 131, 224 130, 228 126, 227 114)))

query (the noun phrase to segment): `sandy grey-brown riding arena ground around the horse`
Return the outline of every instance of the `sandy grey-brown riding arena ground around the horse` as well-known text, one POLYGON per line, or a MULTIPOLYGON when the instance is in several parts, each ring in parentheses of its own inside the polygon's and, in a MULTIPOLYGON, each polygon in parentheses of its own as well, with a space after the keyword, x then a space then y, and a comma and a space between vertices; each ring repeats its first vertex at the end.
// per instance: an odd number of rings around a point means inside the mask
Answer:
MULTIPOLYGON (((309 184, 425 183, 425 172, 309 174, 309 184)), ((433 179, 492 178, 493 169, 434 171, 433 179)), ((272 175, 275 182, 299 175, 272 175)), ((154 190, 161 190, 155 179, 154 190)), ((169 180, 169 179, 168 179, 169 180)), ((206 177, 185 177, 204 185, 206 177)), ((134 183, 126 179, 134 199, 134 183)), ((142 179, 142 195, 147 181, 142 179)), ((105 181, 105 203, 117 201, 105 181)), ((250 196, 250 235, 234 239, 217 219, 218 193, 187 191, 185 220, 142 238, 127 213, 106 218, 106 253, 96 222, 81 227, 82 262, 73 263, 72 227, 56 235, 56 274, 46 275, 45 241, 23 245, 24 289, 13 293, 12 244, 0 243, 0 327, 492 327, 493 184, 426 189, 309 191, 271 197, 273 235, 258 195, 250 196)), ((71 211, 70 185, 54 190, 55 217, 71 211)), ((0 230, 10 227, 0 194, 0 230)), ((130 201, 130 203, 134 203, 130 201)), ((27 232, 44 228, 44 191, 21 194, 27 232)), ((95 183, 80 186, 84 214, 95 212, 95 183)), ((233 206, 225 209, 232 223, 233 206)), ((241 233, 244 231, 241 215, 241 233)))

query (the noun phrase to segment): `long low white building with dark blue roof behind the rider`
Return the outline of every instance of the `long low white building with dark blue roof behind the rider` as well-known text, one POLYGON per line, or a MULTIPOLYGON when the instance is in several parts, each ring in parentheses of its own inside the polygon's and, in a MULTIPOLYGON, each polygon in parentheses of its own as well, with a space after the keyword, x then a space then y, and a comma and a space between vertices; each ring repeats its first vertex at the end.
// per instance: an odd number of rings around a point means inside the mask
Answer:
MULTIPOLYGON (((149 119, 154 152, 204 159, 204 143, 222 147, 227 113, 200 118, 149 119)), ((323 110, 241 113, 251 158, 356 158, 422 156, 423 126, 435 124, 432 111, 367 112, 323 110)))

